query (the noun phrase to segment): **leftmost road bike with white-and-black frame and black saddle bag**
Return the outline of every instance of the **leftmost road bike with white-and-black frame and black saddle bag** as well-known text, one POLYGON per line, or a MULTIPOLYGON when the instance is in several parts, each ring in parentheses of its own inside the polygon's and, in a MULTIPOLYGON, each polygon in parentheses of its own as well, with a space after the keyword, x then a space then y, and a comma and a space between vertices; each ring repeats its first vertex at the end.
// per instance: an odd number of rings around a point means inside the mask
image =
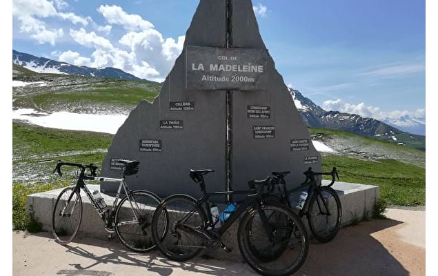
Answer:
MULTIPOLYGON (((65 163, 58 161, 53 172, 62 176, 62 166, 77 167, 77 184, 61 191, 55 201, 52 213, 52 232, 54 239, 66 245, 77 235, 82 220, 81 189, 90 199, 92 206, 103 220, 108 238, 112 239, 117 233, 120 241, 131 250, 146 252, 155 247, 150 235, 152 215, 161 199, 147 190, 130 190, 125 181, 126 175, 135 175, 139 170, 139 161, 119 160, 123 164, 121 178, 97 177, 97 166, 65 163), (86 170, 90 175, 86 175, 86 170), (107 208, 102 198, 94 197, 88 190, 84 180, 109 181, 119 183, 119 189, 115 196, 112 208, 107 208), (119 202, 121 188, 125 197, 119 202)), ((94 193, 97 193, 96 191, 94 193)))

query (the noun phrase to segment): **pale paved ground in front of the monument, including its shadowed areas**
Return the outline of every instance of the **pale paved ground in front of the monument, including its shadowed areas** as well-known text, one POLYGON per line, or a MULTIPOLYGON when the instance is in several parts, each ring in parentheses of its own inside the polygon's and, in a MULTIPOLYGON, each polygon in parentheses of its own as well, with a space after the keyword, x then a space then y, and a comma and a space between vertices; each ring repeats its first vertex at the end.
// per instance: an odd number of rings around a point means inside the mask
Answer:
MULTIPOLYGON (((312 243, 294 275, 426 274, 425 211, 389 209, 390 219, 342 228, 328 244, 312 243)), ((13 275, 257 275, 241 263, 203 259, 170 262, 157 251, 132 253, 119 243, 77 238, 60 246, 51 233, 13 232, 13 275)))

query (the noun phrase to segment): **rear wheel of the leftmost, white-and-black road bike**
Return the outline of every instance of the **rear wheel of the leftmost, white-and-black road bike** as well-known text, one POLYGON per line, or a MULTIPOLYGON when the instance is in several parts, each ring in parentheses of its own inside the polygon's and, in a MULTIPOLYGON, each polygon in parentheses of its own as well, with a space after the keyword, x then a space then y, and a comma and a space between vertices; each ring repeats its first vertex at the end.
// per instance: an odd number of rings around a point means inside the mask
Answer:
POLYGON ((115 211, 114 221, 117 237, 123 245, 137 252, 147 252, 155 248, 150 226, 160 202, 161 199, 157 195, 147 190, 135 190, 130 197, 121 199, 115 211), (132 199, 132 202, 129 199, 132 199), (136 212, 137 219, 133 212, 136 212), (128 221, 132 223, 129 224, 128 221))

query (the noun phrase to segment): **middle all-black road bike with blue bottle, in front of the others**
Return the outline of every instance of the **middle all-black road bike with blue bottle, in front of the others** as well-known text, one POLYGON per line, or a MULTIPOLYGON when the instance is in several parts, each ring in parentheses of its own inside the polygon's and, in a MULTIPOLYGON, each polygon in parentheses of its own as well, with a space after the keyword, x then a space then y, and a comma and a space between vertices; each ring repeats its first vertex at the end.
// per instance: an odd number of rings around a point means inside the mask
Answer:
POLYGON ((152 237, 161 253, 182 262, 206 247, 221 247, 230 252, 221 236, 241 217, 237 241, 241 255, 251 268, 261 275, 290 275, 300 268, 308 253, 306 228, 283 204, 264 201, 263 191, 271 185, 270 180, 249 181, 250 190, 207 193, 203 175, 212 171, 190 170, 190 177, 203 193, 201 199, 171 195, 157 207, 152 218, 152 237), (221 228, 215 228, 208 199, 237 194, 247 197, 221 228))

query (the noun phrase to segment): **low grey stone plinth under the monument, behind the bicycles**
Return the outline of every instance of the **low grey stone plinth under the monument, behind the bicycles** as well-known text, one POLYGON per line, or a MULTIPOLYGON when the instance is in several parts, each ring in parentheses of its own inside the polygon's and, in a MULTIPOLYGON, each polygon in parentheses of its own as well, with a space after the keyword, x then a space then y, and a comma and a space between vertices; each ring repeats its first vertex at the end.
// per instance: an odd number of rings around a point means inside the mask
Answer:
MULTIPOLYGON (((323 184, 328 184, 328 181, 323 181, 323 184)), ((337 182, 333 186, 341 199, 342 205, 342 221, 341 226, 352 224, 354 221, 370 218, 372 210, 377 199, 379 199, 379 187, 363 184, 350 184, 345 182, 337 182)), ((99 185, 88 185, 88 189, 92 193, 93 190, 100 190, 99 185)), ((26 208, 28 212, 34 212, 34 217, 41 222, 43 230, 52 230, 52 209, 57 196, 62 189, 49 190, 44 193, 36 193, 28 195, 26 199, 26 208)), ((296 202, 299 193, 292 195, 292 202, 296 202)), ((83 202, 83 215, 81 228, 78 235, 83 237, 94 237, 97 239, 107 239, 108 233, 103 228, 103 221, 94 210, 90 200, 81 193, 83 202)), ((102 194, 108 206, 112 206, 114 197, 102 194)), ((223 210, 219 206, 220 210, 223 210)), ((306 228, 307 219, 303 219, 306 228)), ((239 253, 239 246, 237 244, 237 229, 239 228, 239 221, 236 221, 228 231, 223 235, 222 241, 227 247, 232 249, 232 253, 225 253, 221 248, 216 250, 206 249, 204 252, 208 257, 215 259, 228 259, 232 261, 241 261, 239 253)), ((308 230, 310 233, 310 230, 308 230)), ((117 239, 115 239, 117 241, 117 239)))

